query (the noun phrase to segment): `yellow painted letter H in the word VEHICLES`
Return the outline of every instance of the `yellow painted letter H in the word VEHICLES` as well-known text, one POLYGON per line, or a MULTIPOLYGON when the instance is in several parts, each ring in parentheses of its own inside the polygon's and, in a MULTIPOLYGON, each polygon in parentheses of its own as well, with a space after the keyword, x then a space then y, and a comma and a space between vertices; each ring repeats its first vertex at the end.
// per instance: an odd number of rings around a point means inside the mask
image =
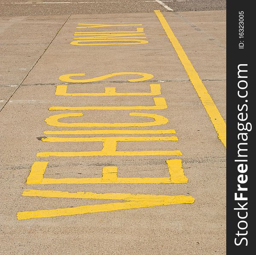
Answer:
POLYGON ((86 157, 86 156, 180 156, 179 150, 145 150, 145 151, 117 151, 117 142, 132 141, 178 141, 176 136, 159 137, 47 137, 42 138, 43 142, 102 142, 103 148, 100 151, 79 151, 79 152, 41 152, 37 157, 86 157))

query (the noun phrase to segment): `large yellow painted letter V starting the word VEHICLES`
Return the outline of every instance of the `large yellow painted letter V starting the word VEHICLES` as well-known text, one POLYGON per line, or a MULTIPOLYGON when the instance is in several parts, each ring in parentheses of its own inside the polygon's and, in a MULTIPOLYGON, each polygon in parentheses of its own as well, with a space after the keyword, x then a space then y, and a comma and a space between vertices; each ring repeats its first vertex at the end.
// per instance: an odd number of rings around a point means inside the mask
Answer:
POLYGON ((154 207, 170 204, 192 204, 195 199, 186 195, 142 195, 123 193, 90 193, 77 192, 69 193, 55 190, 25 190, 23 196, 47 197, 47 198, 83 198, 83 199, 110 199, 125 200, 127 202, 117 202, 109 204, 93 204, 79 207, 58 208, 51 210, 38 210, 18 212, 17 219, 25 220, 31 218, 47 218, 65 215, 81 215, 94 212, 109 212, 116 210, 154 207))

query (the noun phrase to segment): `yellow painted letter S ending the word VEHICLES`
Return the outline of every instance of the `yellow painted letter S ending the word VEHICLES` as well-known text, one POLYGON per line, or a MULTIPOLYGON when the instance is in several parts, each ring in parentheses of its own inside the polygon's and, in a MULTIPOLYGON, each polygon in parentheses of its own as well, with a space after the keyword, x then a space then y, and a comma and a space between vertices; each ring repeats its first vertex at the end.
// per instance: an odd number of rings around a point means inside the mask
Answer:
POLYGON ((72 82, 72 83, 86 83, 86 82, 98 82, 104 79, 108 79, 117 75, 140 75, 142 78, 137 79, 128 79, 128 82, 142 82, 152 79, 154 76, 152 74, 140 73, 140 72, 120 72, 120 73, 113 73, 113 74, 105 74, 99 77, 94 77, 91 79, 71 79, 70 77, 74 76, 85 76, 85 74, 64 74, 59 77, 59 80, 62 82, 72 82))

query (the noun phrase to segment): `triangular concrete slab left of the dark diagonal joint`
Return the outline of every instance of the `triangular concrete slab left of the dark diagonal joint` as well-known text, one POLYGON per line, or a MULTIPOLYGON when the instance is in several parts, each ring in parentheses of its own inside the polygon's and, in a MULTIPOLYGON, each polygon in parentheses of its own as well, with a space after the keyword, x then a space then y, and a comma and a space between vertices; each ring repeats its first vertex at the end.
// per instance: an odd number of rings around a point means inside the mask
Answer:
MULTIPOLYGON (((0 86, 4 104, 43 55, 67 18, 0 18, 0 86)), ((1 103, 2 107, 4 104, 1 103)))

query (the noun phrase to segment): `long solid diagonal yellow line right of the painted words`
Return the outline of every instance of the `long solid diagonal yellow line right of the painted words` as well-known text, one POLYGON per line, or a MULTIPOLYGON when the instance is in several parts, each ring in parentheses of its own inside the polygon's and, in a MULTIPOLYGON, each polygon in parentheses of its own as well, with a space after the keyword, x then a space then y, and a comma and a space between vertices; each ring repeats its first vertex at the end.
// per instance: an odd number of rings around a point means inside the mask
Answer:
POLYGON ((188 77, 196 90, 196 93, 198 94, 206 112, 208 113, 211 122, 213 123, 213 126, 218 134, 218 138, 221 140, 221 142, 224 144, 226 148, 226 123, 224 119, 222 118, 221 114, 219 113, 218 108, 213 102, 213 99, 208 94, 207 89, 205 88, 205 85, 202 83, 199 75, 197 74, 195 68, 193 67, 192 63, 188 59, 188 56, 186 55, 185 51, 183 50, 182 46, 180 45, 179 41, 175 37, 173 31, 171 30, 170 26, 168 25, 167 21, 165 20, 165 17, 161 13, 161 11, 154 11, 156 16, 158 17, 162 27, 165 30, 165 33, 167 34, 171 44, 173 45, 179 60, 182 62, 182 65, 185 68, 185 71, 188 74, 188 77))

